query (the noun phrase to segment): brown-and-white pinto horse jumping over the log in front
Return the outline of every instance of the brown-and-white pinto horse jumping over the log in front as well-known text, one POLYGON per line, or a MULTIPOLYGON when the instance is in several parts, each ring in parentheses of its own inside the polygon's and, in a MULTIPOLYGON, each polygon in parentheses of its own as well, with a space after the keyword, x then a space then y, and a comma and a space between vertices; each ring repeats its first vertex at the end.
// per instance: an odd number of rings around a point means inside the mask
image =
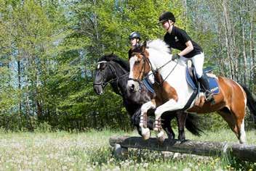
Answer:
MULTIPOLYGON (((133 51, 129 59, 130 72, 127 86, 138 91, 140 80, 152 70, 156 83, 156 97, 143 104, 141 116, 146 117, 148 109, 155 110, 154 130, 158 131, 157 138, 163 141, 163 131, 160 124, 161 114, 167 111, 185 110, 188 113, 204 114, 217 112, 228 122, 240 143, 246 143, 244 131, 244 115, 247 106, 247 94, 235 81, 217 77, 220 92, 214 95, 215 104, 204 100, 204 96, 196 96, 187 109, 187 102, 193 95, 193 89, 185 78, 187 65, 181 60, 172 60, 169 47, 159 39, 143 44, 139 50, 133 51)), ((254 112, 256 115, 256 111, 254 112)), ((148 137, 149 131, 140 124, 143 136, 148 137)))

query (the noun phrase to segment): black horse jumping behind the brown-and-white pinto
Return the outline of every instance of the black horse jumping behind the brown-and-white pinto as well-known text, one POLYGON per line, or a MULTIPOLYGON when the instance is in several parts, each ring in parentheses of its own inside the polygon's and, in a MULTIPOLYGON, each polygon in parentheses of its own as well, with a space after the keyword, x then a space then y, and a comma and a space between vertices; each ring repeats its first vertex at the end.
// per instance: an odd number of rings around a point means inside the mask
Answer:
MULTIPOLYGON (((114 54, 105 55, 97 62, 95 80, 93 83, 94 90, 98 95, 100 95, 103 93, 105 86, 110 83, 113 91, 122 96, 124 107, 127 109, 127 112, 132 120, 132 124, 135 125, 138 133, 141 135, 141 106, 145 102, 150 101, 155 94, 148 91, 143 83, 140 84, 140 91, 127 91, 128 76, 128 62, 125 62, 114 54)), ((153 115, 153 111, 149 112, 149 114, 153 115)), ((179 130, 178 138, 180 140, 185 139, 184 125, 191 133, 193 133, 193 135, 200 135, 200 132, 202 132, 196 124, 198 119, 195 116, 190 115, 187 117, 187 114, 183 114, 183 112, 164 114, 162 117, 162 127, 166 131, 168 138, 175 138, 175 133, 173 132, 170 124, 174 117, 177 118, 179 130), (187 119, 185 117, 187 117, 187 119), (180 123, 182 125, 180 125, 180 123)), ((152 130, 154 121, 153 118, 148 117, 146 120, 146 125, 152 130)))

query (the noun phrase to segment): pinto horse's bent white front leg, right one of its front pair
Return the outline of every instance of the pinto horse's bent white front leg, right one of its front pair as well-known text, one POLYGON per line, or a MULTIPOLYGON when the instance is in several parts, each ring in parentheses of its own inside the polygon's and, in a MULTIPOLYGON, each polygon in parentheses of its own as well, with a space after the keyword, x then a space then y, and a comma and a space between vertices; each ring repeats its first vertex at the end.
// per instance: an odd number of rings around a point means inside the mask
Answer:
MULTIPOLYGON (((184 106, 183 104, 177 103, 177 101, 175 101, 174 99, 169 99, 169 101, 167 101, 166 103, 156 108, 154 130, 158 132, 156 137, 159 139, 159 141, 161 142, 164 141, 164 130, 161 128, 161 114, 167 111, 182 109, 183 106, 184 106)), ((175 112, 169 112, 169 113, 175 114, 175 112)))

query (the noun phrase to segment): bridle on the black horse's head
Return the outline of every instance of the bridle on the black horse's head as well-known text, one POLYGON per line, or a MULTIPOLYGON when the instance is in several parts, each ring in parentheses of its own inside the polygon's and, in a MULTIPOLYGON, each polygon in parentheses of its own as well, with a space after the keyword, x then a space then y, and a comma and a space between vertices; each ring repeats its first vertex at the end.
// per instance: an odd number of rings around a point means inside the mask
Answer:
POLYGON ((109 67, 109 69, 111 70, 111 73, 112 75, 116 76, 116 78, 111 78, 111 80, 108 80, 108 81, 104 81, 105 80, 105 75, 103 75, 103 79, 101 79, 101 82, 100 83, 93 83, 93 85, 100 85, 102 86, 103 88, 105 88, 105 86, 108 85, 108 83, 116 83, 116 86, 117 88, 119 88, 118 86, 118 83, 119 83, 119 80, 121 80, 122 78, 124 78, 126 75, 129 75, 129 72, 125 71, 122 67, 121 67, 121 70, 123 70, 124 72, 127 72, 125 73, 124 75, 121 75, 121 76, 118 76, 117 75, 117 72, 115 70, 115 67, 113 66, 113 64, 111 63, 111 61, 100 61, 100 62, 97 62, 97 66, 98 64, 101 64, 101 63, 105 63, 107 64, 107 67, 109 67))

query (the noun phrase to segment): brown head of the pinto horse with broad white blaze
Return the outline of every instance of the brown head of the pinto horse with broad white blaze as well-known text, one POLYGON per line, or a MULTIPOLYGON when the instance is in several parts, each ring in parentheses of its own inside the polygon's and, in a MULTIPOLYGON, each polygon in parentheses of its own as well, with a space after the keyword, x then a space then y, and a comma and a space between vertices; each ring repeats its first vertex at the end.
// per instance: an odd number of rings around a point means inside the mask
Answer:
POLYGON ((140 81, 151 71, 148 51, 145 48, 146 42, 143 43, 143 46, 132 49, 132 57, 129 59, 129 80, 127 83, 129 91, 138 91, 140 81))

